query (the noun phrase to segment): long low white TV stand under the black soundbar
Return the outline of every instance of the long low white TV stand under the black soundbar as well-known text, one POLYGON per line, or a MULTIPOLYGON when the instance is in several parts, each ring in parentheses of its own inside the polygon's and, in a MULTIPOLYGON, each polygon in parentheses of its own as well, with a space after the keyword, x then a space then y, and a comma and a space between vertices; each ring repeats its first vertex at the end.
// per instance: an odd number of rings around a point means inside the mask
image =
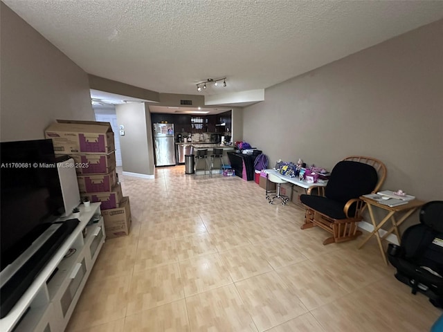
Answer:
POLYGON ((26 293, 0 320, 1 331, 64 331, 106 237, 100 203, 91 203, 90 208, 80 205, 79 220, 26 293), (90 221, 94 222, 88 225, 90 221), (70 249, 75 252, 64 258, 70 249))

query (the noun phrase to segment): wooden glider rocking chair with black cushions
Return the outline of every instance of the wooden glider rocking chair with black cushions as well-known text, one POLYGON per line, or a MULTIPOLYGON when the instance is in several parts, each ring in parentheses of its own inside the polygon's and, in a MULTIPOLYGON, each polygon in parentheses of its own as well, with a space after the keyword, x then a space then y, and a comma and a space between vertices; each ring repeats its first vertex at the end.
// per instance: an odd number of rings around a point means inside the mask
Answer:
POLYGON ((385 178, 386 166, 380 160, 364 156, 345 158, 332 169, 326 187, 313 185, 300 196, 306 207, 302 230, 319 226, 332 233, 323 244, 359 237, 356 223, 361 221, 365 208, 359 197, 377 192, 385 178))

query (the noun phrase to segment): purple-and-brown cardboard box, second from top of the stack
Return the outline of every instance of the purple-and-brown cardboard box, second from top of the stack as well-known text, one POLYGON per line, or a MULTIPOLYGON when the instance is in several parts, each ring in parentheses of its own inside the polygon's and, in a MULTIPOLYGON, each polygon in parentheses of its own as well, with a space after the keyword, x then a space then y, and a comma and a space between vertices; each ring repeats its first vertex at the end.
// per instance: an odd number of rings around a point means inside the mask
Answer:
POLYGON ((116 153, 71 154, 77 174, 107 174, 116 169, 116 153))

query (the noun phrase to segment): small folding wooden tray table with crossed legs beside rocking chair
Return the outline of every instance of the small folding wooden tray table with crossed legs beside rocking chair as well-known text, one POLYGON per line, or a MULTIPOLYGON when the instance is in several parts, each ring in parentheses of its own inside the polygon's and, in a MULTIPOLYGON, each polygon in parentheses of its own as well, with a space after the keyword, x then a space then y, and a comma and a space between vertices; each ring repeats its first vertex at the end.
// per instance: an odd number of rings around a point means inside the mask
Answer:
POLYGON ((368 235, 368 237, 366 237, 360 243, 359 249, 363 247, 365 243, 368 242, 373 235, 375 235, 377 237, 377 242, 379 243, 381 256, 383 257, 383 260, 385 261, 386 265, 388 265, 388 259, 386 259, 386 253, 383 250, 381 241, 386 239, 386 237, 388 237, 388 235, 391 234, 392 232, 395 232, 395 235, 397 235, 397 239, 400 243, 401 236, 398 226, 401 225, 401 223, 403 223, 408 218, 408 216, 413 214, 413 212, 417 210, 417 208, 424 205, 425 202, 419 201, 418 199, 414 199, 413 201, 408 201, 407 204, 390 207, 388 205, 380 204, 379 202, 374 201, 373 199, 369 199, 368 197, 365 196, 361 196, 360 199, 364 201, 368 206, 369 215, 371 218, 372 225, 374 226, 374 230, 368 235), (372 210, 374 207, 381 208, 388 212, 388 214, 386 214, 386 216, 379 223, 377 223, 374 217, 374 210, 372 210), (397 221, 395 219, 395 214, 397 214, 398 212, 403 213, 403 215, 397 221), (383 235, 383 237, 380 237, 379 230, 389 219, 392 222, 392 227, 386 232, 386 234, 383 235))

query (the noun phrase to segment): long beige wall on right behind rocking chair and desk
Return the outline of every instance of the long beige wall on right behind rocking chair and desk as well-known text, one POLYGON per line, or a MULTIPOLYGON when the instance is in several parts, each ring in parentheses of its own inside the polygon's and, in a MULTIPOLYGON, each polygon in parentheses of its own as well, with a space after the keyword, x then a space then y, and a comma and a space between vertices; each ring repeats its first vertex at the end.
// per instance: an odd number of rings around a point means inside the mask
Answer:
POLYGON ((374 156, 388 167, 383 189, 443 199, 442 35, 440 20, 266 89, 244 109, 244 140, 271 166, 374 156))

